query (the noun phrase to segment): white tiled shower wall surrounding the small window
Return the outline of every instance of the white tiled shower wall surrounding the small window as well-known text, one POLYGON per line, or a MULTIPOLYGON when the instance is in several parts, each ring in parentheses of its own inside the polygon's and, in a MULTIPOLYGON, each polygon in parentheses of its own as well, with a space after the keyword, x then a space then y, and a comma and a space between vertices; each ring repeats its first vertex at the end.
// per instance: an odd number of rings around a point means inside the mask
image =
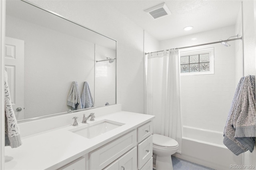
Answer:
MULTIPOLYGON (((234 26, 219 28, 189 36, 182 36, 160 42, 161 49, 192 46, 234 36, 234 26), (197 38, 197 40, 191 40, 197 38)), ((235 42, 231 46, 211 44, 180 51, 214 47, 214 74, 182 76, 181 114, 184 126, 192 126, 223 132, 236 88, 235 84, 235 42)))

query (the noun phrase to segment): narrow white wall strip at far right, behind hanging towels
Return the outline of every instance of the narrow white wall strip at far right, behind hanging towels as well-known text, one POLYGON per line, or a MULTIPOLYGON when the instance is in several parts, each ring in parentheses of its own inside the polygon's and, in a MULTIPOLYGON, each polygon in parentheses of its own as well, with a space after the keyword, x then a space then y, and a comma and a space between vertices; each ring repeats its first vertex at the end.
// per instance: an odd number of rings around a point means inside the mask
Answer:
MULTIPOLYGON (((256 75, 256 2, 243 1, 244 76, 256 75)), ((256 148, 244 153, 244 165, 256 169, 256 148)))

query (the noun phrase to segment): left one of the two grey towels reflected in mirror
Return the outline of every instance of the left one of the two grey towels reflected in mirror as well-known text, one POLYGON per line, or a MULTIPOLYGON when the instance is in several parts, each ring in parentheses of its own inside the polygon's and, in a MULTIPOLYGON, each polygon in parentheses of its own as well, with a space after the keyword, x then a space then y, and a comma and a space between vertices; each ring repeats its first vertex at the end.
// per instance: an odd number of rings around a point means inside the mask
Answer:
POLYGON ((81 97, 76 81, 72 83, 70 92, 68 94, 68 106, 72 106, 72 110, 82 109, 81 97))

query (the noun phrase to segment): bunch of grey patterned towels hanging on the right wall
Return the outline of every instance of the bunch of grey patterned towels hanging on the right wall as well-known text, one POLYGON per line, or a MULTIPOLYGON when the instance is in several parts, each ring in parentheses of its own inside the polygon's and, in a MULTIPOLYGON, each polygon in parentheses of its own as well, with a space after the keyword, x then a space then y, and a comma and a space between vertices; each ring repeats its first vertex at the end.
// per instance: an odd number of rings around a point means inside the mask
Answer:
POLYGON ((253 151, 255 145, 255 76, 240 79, 224 128, 223 143, 234 154, 253 151))

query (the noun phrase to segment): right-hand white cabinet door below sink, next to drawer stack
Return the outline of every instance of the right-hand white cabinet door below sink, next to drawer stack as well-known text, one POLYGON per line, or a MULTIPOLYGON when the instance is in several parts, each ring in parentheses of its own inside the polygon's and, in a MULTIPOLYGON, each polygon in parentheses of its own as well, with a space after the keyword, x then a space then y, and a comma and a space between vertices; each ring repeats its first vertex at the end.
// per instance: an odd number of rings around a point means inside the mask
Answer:
POLYGON ((137 147, 130 150, 119 160, 119 170, 137 170, 137 147))

